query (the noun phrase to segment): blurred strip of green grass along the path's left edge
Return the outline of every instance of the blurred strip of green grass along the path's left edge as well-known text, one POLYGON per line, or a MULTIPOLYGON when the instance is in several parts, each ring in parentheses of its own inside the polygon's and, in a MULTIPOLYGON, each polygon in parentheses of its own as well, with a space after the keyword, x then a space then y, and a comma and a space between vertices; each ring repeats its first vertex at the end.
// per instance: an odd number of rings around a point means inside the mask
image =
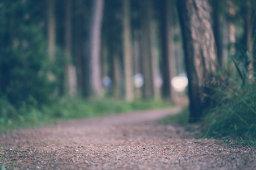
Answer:
POLYGON ((0 100, 0 133, 18 128, 31 128, 55 124, 74 118, 101 117, 109 114, 145 109, 170 107, 171 104, 156 100, 127 102, 116 99, 60 99, 51 106, 24 105, 19 109, 6 100, 0 100))

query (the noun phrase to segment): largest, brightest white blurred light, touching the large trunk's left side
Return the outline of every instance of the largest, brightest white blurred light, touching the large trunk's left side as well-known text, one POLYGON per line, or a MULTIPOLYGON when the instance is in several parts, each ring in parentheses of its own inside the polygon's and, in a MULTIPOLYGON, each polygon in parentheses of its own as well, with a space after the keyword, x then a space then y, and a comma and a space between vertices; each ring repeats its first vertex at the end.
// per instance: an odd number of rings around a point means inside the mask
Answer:
POLYGON ((184 73, 179 74, 172 78, 171 83, 175 91, 181 92, 184 91, 185 88, 188 86, 188 78, 184 73))

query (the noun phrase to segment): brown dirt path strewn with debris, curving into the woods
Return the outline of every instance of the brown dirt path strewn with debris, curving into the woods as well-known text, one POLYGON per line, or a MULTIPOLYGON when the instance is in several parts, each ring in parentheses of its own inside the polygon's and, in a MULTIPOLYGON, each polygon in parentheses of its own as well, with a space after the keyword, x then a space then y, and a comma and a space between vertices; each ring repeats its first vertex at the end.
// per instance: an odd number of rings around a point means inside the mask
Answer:
POLYGON ((256 147, 186 138, 159 118, 179 108, 68 121, 0 135, 0 169, 256 169, 256 147))

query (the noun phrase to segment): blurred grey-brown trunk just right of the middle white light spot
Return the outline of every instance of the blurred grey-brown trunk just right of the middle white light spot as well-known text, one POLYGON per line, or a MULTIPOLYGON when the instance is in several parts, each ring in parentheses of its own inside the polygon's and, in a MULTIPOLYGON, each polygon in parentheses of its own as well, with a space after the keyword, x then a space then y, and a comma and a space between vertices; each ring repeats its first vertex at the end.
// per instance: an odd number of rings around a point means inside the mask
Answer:
POLYGON ((144 97, 150 99, 154 94, 154 78, 152 73, 152 54, 151 54, 151 0, 141 0, 141 29, 142 29, 142 66, 144 76, 144 97))

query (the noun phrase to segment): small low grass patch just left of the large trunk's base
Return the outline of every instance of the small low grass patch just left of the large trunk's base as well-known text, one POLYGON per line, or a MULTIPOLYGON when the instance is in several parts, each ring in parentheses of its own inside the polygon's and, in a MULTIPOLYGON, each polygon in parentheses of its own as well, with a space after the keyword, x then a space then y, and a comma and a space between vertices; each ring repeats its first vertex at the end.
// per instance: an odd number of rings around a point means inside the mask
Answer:
POLYGON ((189 109, 183 108, 179 114, 166 116, 161 120, 162 124, 187 124, 189 120, 189 109))

